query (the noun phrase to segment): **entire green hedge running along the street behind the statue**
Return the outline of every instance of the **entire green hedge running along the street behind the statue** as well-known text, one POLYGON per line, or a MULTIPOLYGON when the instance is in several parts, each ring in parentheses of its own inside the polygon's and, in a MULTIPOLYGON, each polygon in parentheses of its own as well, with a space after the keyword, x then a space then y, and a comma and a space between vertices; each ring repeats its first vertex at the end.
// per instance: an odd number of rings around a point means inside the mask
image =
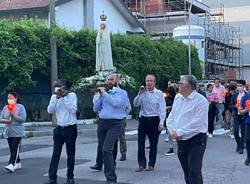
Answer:
MULTIPOLYGON (((59 78, 76 84, 95 74, 96 32, 69 31, 55 28, 52 32, 39 20, 0 21, 0 83, 5 90, 35 84, 32 74, 40 72, 50 78, 50 35, 58 40, 59 78)), ((158 86, 166 87, 169 79, 179 80, 188 73, 188 47, 174 39, 152 41, 142 35, 112 35, 113 61, 118 72, 144 83, 148 73, 157 76, 158 86)), ((197 51, 192 48, 192 72, 201 77, 197 51)))

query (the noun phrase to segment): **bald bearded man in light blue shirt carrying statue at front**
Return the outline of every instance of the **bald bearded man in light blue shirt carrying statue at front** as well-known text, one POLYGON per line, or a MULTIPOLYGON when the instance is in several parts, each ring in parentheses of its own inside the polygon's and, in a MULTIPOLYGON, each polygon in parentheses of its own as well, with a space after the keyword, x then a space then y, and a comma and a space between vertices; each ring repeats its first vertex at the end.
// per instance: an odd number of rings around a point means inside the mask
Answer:
POLYGON ((124 128, 128 95, 118 87, 117 74, 107 77, 108 90, 98 88, 100 96, 94 101, 94 112, 99 114, 99 139, 104 161, 104 174, 108 184, 116 184, 113 149, 124 128))

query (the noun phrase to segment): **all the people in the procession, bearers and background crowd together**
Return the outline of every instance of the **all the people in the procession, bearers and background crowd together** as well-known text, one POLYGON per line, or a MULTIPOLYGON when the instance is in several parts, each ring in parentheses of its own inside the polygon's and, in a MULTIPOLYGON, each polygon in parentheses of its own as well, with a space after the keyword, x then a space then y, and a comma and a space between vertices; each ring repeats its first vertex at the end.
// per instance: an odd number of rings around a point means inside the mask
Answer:
MULTIPOLYGON (((101 171, 107 184, 116 184, 116 157, 120 142, 120 161, 126 160, 125 139, 126 117, 131 110, 128 94, 119 86, 117 74, 107 76, 108 87, 98 87, 93 97, 93 110, 98 114, 96 164, 90 169, 101 171)), ((65 80, 54 83, 55 93, 47 107, 49 114, 55 114, 57 126, 53 130, 53 153, 49 166, 49 181, 57 183, 57 169, 62 147, 66 145, 67 181, 74 184, 74 166, 77 139, 77 96, 70 92, 65 80)), ((0 122, 6 125, 10 159, 6 170, 21 169, 19 156, 21 139, 24 137, 25 107, 15 92, 8 93, 7 105, 3 108, 0 122)), ((245 165, 250 164, 250 81, 222 85, 219 79, 208 84, 206 90, 197 88, 192 75, 181 76, 178 84, 168 82, 164 93, 156 88, 156 77, 145 77, 145 86, 139 88, 133 100, 139 108, 138 118, 138 167, 136 172, 153 171, 157 160, 157 146, 161 131, 167 134, 169 150, 177 156, 187 184, 202 184, 202 160, 207 137, 212 138, 216 126, 230 130, 236 140, 236 151, 247 152, 245 165), (146 156, 146 139, 149 140, 149 156, 146 156)))

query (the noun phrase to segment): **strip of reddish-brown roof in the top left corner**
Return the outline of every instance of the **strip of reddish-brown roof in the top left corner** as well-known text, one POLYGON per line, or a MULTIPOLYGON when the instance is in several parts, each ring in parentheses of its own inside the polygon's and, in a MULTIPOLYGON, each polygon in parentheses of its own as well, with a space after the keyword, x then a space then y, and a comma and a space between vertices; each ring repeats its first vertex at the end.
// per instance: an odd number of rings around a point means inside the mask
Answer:
POLYGON ((48 4, 49 0, 0 0, 0 11, 47 7, 48 4))

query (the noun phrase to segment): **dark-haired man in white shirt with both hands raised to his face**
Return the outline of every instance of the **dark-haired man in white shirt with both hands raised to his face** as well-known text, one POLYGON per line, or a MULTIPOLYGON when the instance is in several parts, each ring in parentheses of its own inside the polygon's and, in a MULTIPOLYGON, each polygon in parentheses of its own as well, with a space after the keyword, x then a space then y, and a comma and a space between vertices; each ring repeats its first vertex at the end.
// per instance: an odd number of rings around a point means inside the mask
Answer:
POLYGON ((55 94, 50 99, 47 111, 49 114, 56 115, 57 126, 53 130, 53 155, 47 184, 57 183, 57 169, 64 143, 67 152, 67 181, 65 184, 74 184, 77 97, 75 93, 68 91, 70 88, 68 81, 57 80, 54 87, 55 94))

